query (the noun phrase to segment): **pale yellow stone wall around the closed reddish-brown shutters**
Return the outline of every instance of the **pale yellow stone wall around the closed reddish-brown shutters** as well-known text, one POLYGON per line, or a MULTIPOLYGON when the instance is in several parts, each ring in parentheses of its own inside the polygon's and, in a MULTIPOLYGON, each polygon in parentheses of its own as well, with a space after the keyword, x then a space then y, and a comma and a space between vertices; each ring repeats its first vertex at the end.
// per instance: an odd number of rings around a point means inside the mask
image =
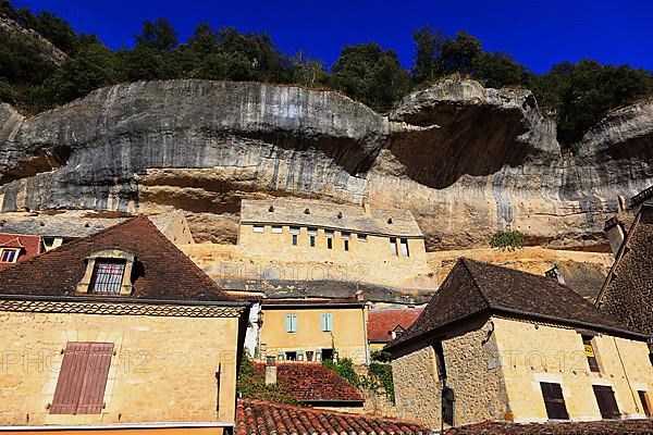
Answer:
POLYGON ((238 318, 4 311, 0 322, 0 402, 11 402, 0 425, 234 421, 238 318), (113 344, 100 414, 48 412, 69 341, 113 344))

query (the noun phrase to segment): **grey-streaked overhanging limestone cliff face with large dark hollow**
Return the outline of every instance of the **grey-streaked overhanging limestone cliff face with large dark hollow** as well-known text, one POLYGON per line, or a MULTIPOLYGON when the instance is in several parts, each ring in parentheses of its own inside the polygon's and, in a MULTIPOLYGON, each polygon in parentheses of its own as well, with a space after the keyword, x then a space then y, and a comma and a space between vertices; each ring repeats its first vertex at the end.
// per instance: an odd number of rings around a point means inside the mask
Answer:
POLYGON ((430 249, 486 245, 507 226, 597 245, 617 195, 653 184, 652 115, 651 103, 612 113, 570 157, 528 90, 469 80, 389 116, 298 87, 119 85, 28 120, 0 107, 0 209, 176 207, 205 238, 233 240, 242 198, 297 196, 408 208, 430 249))

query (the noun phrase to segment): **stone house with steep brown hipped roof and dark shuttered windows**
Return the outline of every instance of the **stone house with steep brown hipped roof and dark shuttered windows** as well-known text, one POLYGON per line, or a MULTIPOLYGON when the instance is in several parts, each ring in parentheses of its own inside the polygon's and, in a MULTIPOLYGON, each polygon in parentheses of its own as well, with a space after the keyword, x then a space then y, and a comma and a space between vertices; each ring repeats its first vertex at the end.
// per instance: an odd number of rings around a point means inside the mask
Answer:
POLYGON ((386 349, 399 417, 440 427, 650 415, 646 338, 556 279, 461 259, 386 349))

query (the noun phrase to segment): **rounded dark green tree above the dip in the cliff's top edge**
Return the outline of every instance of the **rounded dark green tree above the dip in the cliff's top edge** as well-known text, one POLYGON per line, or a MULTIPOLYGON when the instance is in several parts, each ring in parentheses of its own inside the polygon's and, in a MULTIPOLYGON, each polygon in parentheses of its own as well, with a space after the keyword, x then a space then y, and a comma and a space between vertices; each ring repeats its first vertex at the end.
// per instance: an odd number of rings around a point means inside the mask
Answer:
POLYGON ((408 72, 397 53, 375 44, 345 47, 331 72, 335 89, 378 111, 391 109, 410 89, 408 72))

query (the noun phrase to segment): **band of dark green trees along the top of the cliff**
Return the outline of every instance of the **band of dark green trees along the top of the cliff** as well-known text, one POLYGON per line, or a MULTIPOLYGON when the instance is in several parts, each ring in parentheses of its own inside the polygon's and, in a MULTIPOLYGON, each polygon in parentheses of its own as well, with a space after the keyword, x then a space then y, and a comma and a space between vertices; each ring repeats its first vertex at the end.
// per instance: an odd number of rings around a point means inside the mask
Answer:
POLYGON ((167 20, 146 21, 133 49, 112 51, 48 12, 34 15, 0 0, 0 16, 38 32, 69 55, 61 64, 52 62, 38 41, 0 26, 0 101, 30 113, 102 86, 171 78, 331 88, 386 111, 410 90, 455 73, 486 87, 532 89, 543 112, 556 119, 559 141, 570 147, 611 109, 653 95, 653 75, 643 69, 582 60, 563 62, 538 75, 509 54, 483 50, 481 41, 467 33, 445 37, 428 26, 412 34, 416 51, 410 70, 402 67, 394 50, 377 44, 343 48, 328 69, 303 52, 291 57, 279 51, 268 34, 213 29, 207 23, 180 42, 167 20))

